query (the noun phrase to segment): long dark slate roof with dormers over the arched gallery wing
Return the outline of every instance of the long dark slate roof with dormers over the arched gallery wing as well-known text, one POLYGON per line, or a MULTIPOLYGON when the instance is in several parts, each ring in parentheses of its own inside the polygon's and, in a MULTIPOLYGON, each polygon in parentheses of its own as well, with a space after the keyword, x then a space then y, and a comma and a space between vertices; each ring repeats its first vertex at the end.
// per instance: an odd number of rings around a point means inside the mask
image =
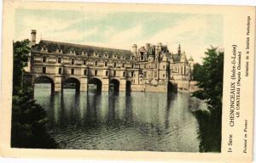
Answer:
POLYGON ((89 55, 92 55, 94 52, 96 52, 99 54, 100 57, 103 56, 103 54, 105 53, 108 53, 109 57, 112 57, 113 54, 117 54, 118 58, 121 57, 121 55, 124 55, 125 58, 130 58, 132 55, 130 50, 115 49, 115 48, 101 48, 101 47, 73 44, 73 43, 66 43, 66 42, 53 42, 48 40, 41 40, 32 49, 40 52, 44 46, 48 49, 49 53, 55 53, 55 51, 58 48, 60 48, 62 50, 62 53, 70 53, 71 50, 74 50, 77 55, 81 55, 82 51, 87 52, 89 55))

